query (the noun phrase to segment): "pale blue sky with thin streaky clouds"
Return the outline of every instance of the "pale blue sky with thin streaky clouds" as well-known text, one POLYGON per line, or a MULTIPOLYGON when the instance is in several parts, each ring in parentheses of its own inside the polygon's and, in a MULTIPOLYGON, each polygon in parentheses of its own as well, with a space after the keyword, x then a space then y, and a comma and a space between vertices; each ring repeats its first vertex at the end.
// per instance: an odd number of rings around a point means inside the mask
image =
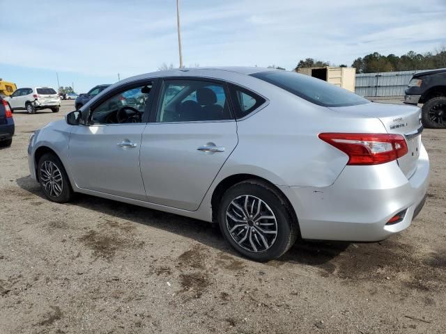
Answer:
MULTIPOLYGON (((176 0, 0 0, 0 78, 85 93, 178 67, 176 0), (24 13, 26 8, 26 14, 24 13)), ((446 0, 180 0, 185 66, 351 65, 446 45, 446 0)))

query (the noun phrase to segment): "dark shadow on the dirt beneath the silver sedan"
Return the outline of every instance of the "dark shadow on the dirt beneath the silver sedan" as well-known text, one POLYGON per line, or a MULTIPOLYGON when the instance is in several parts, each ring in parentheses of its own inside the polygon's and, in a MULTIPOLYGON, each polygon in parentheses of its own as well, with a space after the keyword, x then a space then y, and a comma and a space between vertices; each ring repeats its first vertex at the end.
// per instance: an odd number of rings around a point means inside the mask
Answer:
MULTIPOLYGON (((37 182, 30 176, 16 180, 21 189, 47 200, 37 182)), ((59 205, 53 203, 54 205, 59 205)), ((147 209, 137 205, 130 205, 115 200, 108 200, 95 196, 77 194, 72 202, 66 205, 76 205, 102 214, 125 219, 134 223, 150 226, 175 233, 183 237, 194 239, 201 244, 216 248, 233 256, 240 257, 224 240, 220 229, 215 224, 199 221, 193 218, 169 214, 167 212, 147 209)), ((350 243, 337 241, 304 241, 299 240, 284 256, 275 261, 278 265, 284 262, 323 266, 326 262, 337 257, 350 243)))

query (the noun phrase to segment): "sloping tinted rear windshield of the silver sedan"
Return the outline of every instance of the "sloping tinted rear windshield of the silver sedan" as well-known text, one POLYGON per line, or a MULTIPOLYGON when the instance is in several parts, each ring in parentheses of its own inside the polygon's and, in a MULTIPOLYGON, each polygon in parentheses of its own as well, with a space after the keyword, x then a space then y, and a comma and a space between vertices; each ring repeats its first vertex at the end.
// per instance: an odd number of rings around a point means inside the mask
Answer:
POLYGON ((250 74, 277 87, 302 97, 319 106, 355 106, 369 103, 368 100, 344 88, 304 74, 287 71, 269 71, 250 74))

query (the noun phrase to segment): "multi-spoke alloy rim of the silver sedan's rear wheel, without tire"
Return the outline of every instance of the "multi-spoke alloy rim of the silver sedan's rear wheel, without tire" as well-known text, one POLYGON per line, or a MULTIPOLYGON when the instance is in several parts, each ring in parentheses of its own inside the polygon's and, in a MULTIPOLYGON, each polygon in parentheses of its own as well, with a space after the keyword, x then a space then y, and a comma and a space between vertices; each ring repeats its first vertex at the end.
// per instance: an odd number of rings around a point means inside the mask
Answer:
POLYGON ((250 252, 268 250, 277 237, 277 219, 260 198, 238 196, 226 209, 226 228, 238 246, 250 252))

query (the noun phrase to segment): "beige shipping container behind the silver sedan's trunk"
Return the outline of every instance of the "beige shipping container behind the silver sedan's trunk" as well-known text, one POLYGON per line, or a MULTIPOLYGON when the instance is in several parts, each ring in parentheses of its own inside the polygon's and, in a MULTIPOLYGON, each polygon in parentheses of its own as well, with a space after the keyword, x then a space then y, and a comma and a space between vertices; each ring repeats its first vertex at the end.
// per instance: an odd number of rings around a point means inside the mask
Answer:
POLYGON ((355 67, 299 67, 298 73, 327 81, 334 86, 355 91, 355 67))

